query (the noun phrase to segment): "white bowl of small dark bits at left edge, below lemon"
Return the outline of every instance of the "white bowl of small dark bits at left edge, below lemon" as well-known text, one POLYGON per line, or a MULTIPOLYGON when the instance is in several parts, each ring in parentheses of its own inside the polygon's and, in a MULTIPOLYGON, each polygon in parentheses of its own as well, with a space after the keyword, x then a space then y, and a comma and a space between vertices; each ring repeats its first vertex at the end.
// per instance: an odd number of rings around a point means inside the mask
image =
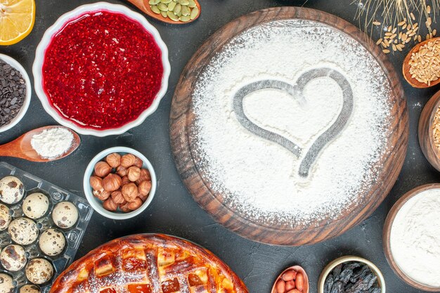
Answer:
POLYGON ((11 129, 25 116, 32 91, 25 68, 0 54, 0 132, 11 129))

